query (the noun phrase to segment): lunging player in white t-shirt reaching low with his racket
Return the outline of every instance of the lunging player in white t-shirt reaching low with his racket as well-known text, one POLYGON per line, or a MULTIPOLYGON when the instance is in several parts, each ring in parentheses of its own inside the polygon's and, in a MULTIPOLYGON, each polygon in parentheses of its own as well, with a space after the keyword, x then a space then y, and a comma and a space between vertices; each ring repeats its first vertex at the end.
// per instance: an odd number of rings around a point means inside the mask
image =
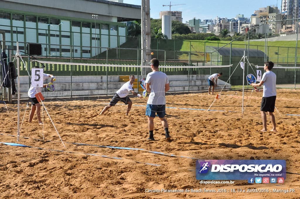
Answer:
POLYGON ((131 92, 133 95, 139 97, 139 98, 143 98, 142 95, 137 94, 136 92, 134 92, 134 89, 132 88, 133 83, 134 83, 135 77, 134 75, 130 75, 129 76, 129 81, 126 82, 113 96, 113 99, 110 101, 110 104, 105 106, 103 108, 103 110, 101 111, 100 115, 102 115, 105 111, 107 111, 110 107, 114 106, 117 104, 117 102, 122 101, 125 104, 128 104, 127 107, 127 111, 126 111, 126 115, 128 115, 131 106, 132 106, 132 102, 131 99, 128 97, 128 94, 131 92))

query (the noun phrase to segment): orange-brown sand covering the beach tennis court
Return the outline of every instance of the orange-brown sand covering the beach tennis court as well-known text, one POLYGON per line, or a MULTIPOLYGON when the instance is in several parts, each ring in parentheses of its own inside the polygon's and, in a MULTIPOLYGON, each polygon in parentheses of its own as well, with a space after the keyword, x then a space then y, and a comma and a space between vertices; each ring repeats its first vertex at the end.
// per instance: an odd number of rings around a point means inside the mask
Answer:
POLYGON ((260 132, 262 92, 245 91, 243 114, 241 91, 223 91, 215 101, 207 93, 167 95, 171 141, 158 118, 155 141, 147 141, 147 97, 131 97, 129 116, 122 103, 99 115, 110 99, 46 101, 54 125, 45 110, 44 125, 36 115, 28 123, 30 108, 22 122, 21 103, 19 142, 17 105, 7 112, 0 104, 0 142, 30 146, 0 144, 0 198, 300 198, 299 96, 278 89, 277 132, 260 132), (196 159, 283 159, 287 174, 282 184, 205 185, 196 180, 196 159))

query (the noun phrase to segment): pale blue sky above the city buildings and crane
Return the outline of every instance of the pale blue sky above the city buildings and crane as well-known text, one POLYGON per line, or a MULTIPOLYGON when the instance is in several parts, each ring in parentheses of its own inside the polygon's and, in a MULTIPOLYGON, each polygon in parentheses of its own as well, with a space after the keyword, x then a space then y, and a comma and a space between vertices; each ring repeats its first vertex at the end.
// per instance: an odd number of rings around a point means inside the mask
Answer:
MULTIPOLYGON (((123 3, 141 5, 141 0, 124 0, 123 3)), ((150 0, 150 17, 159 19, 159 12, 169 10, 170 0, 150 0)), ((196 17, 196 19, 214 19, 218 17, 227 17, 231 19, 237 14, 244 14, 244 17, 250 17, 254 10, 260 7, 267 7, 277 4, 281 8, 281 0, 174 0, 171 5, 173 11, 182 11, 183 22, 196 17)))

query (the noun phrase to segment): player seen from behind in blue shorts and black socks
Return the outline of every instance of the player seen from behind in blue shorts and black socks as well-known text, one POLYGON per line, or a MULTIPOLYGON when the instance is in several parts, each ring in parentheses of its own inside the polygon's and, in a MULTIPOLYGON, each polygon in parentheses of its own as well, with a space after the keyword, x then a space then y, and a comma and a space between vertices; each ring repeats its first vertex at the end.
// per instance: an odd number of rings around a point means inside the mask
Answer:
POLYGON ((154 141, 153 129, 154 129, 154 118, 158 115, 161 120, 161 124, 166 132, 166 139, 170 140, 169 135, 169 125, 165 118, 166 115, 166 97, 165 92, 169 91, 169 79, 167 75, 158 69, 159 61, 154 58, 151 60, 150 67, 152 69, 151 73, 148 73, 146 78, 146 90, 149 94, 149 99, 147 101, 146 115, 148 116, 148 128, 149 128, 149 138, 148 140, 154 141))

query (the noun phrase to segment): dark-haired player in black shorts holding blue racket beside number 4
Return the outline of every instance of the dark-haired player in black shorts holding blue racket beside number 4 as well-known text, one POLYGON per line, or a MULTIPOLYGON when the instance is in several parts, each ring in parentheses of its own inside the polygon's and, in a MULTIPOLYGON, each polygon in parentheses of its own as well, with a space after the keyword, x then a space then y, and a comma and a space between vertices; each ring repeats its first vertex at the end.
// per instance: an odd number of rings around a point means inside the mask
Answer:
MULTIPOLYGON (((262 80, 258 84, 252 83, 251 86, 261 86, 263 84, 262 102, 260 105, 260 114, 262 116, 262 132, 267 131, 267 115, 270 115, 273 128, 270 131, 276 132, 275 116, 273 114, 276 101, 276 74, 271 70, 274 67, 274 63, 271 61, 265 62, 264 70, 266 71, 262 75, 262 80)), ((260 89, 255 89, 256 92, 260 92, 260 89)))

